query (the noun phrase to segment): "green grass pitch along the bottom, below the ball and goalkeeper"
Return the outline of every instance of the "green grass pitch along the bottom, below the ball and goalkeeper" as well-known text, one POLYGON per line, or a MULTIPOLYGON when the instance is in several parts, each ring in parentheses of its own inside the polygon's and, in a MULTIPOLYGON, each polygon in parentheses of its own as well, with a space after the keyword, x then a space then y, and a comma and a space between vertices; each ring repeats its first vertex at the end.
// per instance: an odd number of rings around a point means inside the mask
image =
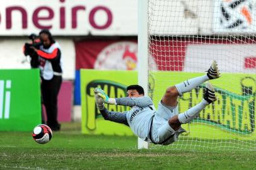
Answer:
POLYGON ((256 152, 137 150, 136 137, 82 135, 63 123, 48 144, 30 132, 0 132, 0 169, 256 169, 256 152))

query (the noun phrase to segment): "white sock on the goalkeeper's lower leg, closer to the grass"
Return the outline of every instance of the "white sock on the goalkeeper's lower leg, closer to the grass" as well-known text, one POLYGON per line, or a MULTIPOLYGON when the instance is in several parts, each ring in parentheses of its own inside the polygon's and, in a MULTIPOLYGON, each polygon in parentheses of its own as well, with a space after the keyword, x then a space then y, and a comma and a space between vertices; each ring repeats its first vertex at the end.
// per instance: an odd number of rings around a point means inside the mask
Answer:
POLYGON ((206 108, 207 105, 209 105, 209 103, 205 99, 202 99, 201 103, 195 105, 184 113, 178 114, 178 121, 182 124, 189 123, 200 113, 200 111, 206 108))

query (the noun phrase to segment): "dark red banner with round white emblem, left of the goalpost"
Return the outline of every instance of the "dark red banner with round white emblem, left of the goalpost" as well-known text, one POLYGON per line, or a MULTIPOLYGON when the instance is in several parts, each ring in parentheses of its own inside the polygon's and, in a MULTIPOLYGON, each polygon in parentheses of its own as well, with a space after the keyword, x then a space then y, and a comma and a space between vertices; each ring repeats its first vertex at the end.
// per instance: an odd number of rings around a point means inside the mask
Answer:
POLYGON ((136 40, 90 40, 75 42, 76 70, 135 70, 137 68, 136 40))

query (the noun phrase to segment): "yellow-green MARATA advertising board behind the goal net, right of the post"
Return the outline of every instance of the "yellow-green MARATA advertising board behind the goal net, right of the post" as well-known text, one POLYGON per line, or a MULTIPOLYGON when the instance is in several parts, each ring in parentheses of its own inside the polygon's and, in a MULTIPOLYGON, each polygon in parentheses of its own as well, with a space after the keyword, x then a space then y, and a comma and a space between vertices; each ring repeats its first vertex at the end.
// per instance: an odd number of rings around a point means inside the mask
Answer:
MULTIPOLYGON (((156 105, 168 86, 174 86, 201 73, 151 72, 149 84, 156 105)), ((255 138, 256 74, 222 74, 210 81, 216 89, 218 101, 199 113, 192 123, 182 125, 189 137, 207 139, 250 139, 255 138)), ((200 103, 205 84, 184 93, 178 98, 179 113, 200 103)), ((157 105, 156 105, 157 106, 157 105)))

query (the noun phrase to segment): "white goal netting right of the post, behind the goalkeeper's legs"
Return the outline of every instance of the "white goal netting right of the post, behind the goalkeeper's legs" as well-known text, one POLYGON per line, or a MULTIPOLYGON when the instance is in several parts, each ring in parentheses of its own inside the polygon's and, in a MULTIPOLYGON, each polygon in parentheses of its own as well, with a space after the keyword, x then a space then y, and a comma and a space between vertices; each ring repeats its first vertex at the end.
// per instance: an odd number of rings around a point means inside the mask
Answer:
MULTIPOLYGON (((218 101, 182 125, 187 133, 168 148, 256 150, 255 13, 250 0, 148 0, 149 95, 156 106, 168 86, 206 74, 212 60, 222 73, 211 81, 218 101)), ((179 112, 199 103, 204 88, 180 96, 179 112)))

